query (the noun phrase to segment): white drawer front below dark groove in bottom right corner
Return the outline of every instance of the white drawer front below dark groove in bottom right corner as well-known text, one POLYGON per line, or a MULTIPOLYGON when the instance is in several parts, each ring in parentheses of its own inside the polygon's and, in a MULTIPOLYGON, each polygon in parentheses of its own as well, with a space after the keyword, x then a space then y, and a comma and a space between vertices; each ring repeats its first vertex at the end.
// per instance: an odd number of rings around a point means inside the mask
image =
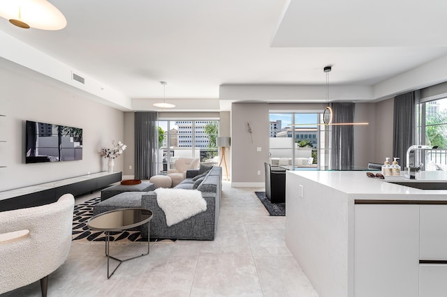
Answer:
POLYGON ((447 265, 420 264, 419 266, 419 296, 447 296, 447 265))

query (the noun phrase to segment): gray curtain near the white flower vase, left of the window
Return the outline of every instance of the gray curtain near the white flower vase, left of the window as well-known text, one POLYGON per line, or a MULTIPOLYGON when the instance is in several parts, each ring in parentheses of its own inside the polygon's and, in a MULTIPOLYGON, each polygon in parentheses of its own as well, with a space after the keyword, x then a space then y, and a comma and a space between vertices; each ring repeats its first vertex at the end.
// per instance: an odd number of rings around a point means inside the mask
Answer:
POLYGON ((156 112, 135 112, 135 179, 156 175, 157 121, 156 112))

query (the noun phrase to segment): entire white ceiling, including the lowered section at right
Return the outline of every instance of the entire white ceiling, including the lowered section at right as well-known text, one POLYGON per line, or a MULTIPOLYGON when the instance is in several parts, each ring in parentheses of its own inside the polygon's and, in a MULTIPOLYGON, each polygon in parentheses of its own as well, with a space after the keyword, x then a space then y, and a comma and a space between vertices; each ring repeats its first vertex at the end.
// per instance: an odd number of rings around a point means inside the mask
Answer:
POLYGON ((61 31, 0 30, 129 98, 222 84, 374 85, 447 54, 445 0, 50 0, 61 31))

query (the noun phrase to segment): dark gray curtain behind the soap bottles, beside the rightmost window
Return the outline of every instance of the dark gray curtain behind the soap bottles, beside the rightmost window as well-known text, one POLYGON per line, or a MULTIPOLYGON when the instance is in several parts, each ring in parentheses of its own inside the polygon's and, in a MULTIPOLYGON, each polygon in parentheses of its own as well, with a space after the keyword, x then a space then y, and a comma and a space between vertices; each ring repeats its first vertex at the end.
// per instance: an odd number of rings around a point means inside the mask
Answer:
MULTIPOLYGON (((393 156, 406 166, 406 150, 416 144, 416 100, 419 91, 411 91, 394 98, 393 156)), ((402 166, 402 167, 403 167, 402 166)))

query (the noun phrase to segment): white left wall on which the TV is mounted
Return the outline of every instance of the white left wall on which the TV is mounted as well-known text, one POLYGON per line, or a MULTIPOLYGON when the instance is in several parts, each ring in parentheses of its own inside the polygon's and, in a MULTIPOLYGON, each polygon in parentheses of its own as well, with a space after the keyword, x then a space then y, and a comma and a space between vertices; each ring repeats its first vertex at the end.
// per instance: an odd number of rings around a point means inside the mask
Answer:
MULTIPOLYGON (((107 170, 99 151, 123 140, 124 112, 10 62, 0 63, 0 89, 0 114, 6 115, 0 117, 0 139, 7 141, 0 143, 0 165, 7 166, 0 168, 0 191, 107 170), (82 160, 25 164, 26 120, 82 128, 82 160)), ((115 171, 122 170, 122 160, 115 160, 115 171)))

